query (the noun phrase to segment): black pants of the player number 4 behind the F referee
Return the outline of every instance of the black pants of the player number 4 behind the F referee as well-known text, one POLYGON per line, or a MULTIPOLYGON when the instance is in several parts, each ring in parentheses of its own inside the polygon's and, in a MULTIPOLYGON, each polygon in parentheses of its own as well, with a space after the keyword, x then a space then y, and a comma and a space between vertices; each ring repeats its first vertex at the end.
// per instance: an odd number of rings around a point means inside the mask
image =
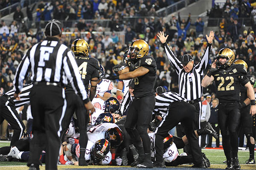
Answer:
MULTIPOLYGON (((89 122, 89 114, 87 114, 87 110, 84 107, 82 99, 76 95, 75 93, 65 93, 67 100, 67 109, 65 112, 65 116, 63 119, 63 131, 65 133, 67 131, 68 126, 70 125, 71 118, 76 111, 76 117, 78 121, 79 127, 79 145, 80 145, 80 156, 86 150, 88 136, 87 136, 87 124, 89 122)), ((62 135, 62 139, 64 139, 64 134, 62 135)), ((83 156, 84 157, 84 156, 83 156)))

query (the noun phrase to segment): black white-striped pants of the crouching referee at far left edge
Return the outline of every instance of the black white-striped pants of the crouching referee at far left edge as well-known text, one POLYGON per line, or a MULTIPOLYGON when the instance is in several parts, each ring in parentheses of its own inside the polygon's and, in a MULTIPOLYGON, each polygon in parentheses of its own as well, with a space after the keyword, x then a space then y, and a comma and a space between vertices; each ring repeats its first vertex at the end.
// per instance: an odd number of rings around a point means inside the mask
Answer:
POLYGON ((8 100, 7 95, 3 95, 0 97, 1 108, 0 108, 0 124, 6 119, 6 121, 11 125, 14 130, 12 141, 10 146, 14 145, 16 141, 18 141, 24 133, 25 125, 20 119, 18 112, 16 111, 14 102, 12 99, 8 100))

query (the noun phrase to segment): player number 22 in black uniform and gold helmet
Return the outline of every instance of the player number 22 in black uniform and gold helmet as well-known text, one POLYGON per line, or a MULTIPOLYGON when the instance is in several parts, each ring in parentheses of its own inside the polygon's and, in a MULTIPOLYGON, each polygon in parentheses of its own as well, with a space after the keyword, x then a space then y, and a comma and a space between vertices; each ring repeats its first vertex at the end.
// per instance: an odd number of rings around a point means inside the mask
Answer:
POLYGON ((239 170, 241 167, 237 156, 238 135, 236 132, 241 115, 240 84, 247 89, 247 96, 251 103, 250 114, 256 113, 256 107, 254 91, 246 76, 247 70, 244 65, 233 64, 235 57, 236 55, 231 49, 222 48, 201 85, 207 87, 215 81, 216 97, 219 99, 218 123, 222 134, 223 150, 227 158, 226 169, 239 170))

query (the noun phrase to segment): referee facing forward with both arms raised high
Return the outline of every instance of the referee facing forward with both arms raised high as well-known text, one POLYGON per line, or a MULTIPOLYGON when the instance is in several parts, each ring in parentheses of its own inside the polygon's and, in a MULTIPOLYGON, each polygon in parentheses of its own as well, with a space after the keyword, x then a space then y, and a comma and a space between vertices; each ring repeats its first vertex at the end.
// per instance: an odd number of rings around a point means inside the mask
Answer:
MULTIPOLYGON (((177 59, 172 50, 169 48, 169 45, 166 43, 168 36, 169 35, 165 37, 164 32, 159 32, 157 34, 157 37, 163 43, 169 61, 179 76, 180 96, 184 97, 189 101, 189 103, 195 106, 195 129, 199 129, 202 108, 201 96, 203 94, 201 82, 209 60, 214 32, 210 31, 209 37, 206 35, 208 44, 204 51, 203 57, 197 65, 194 65, 194 60, 189 54, 181 56, 179 61, 179 59, 177 59)), ((199 144, 200 141, 201 139, 199 139, 199 144)))

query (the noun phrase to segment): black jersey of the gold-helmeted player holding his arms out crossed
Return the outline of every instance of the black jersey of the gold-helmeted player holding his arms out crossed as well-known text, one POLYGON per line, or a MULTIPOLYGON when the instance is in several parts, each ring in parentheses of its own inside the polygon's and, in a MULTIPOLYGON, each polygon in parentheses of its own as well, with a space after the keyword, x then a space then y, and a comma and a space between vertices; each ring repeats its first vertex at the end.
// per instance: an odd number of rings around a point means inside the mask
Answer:
POLYGON ((139 58, 135 63, 135 69, 144 67, 149 72, 141 77, 134 78, 134 97, 140 98, 143 96, 154 95, 154 85, 156 81, 157 65, 153 57, 144 56, 139 58))

